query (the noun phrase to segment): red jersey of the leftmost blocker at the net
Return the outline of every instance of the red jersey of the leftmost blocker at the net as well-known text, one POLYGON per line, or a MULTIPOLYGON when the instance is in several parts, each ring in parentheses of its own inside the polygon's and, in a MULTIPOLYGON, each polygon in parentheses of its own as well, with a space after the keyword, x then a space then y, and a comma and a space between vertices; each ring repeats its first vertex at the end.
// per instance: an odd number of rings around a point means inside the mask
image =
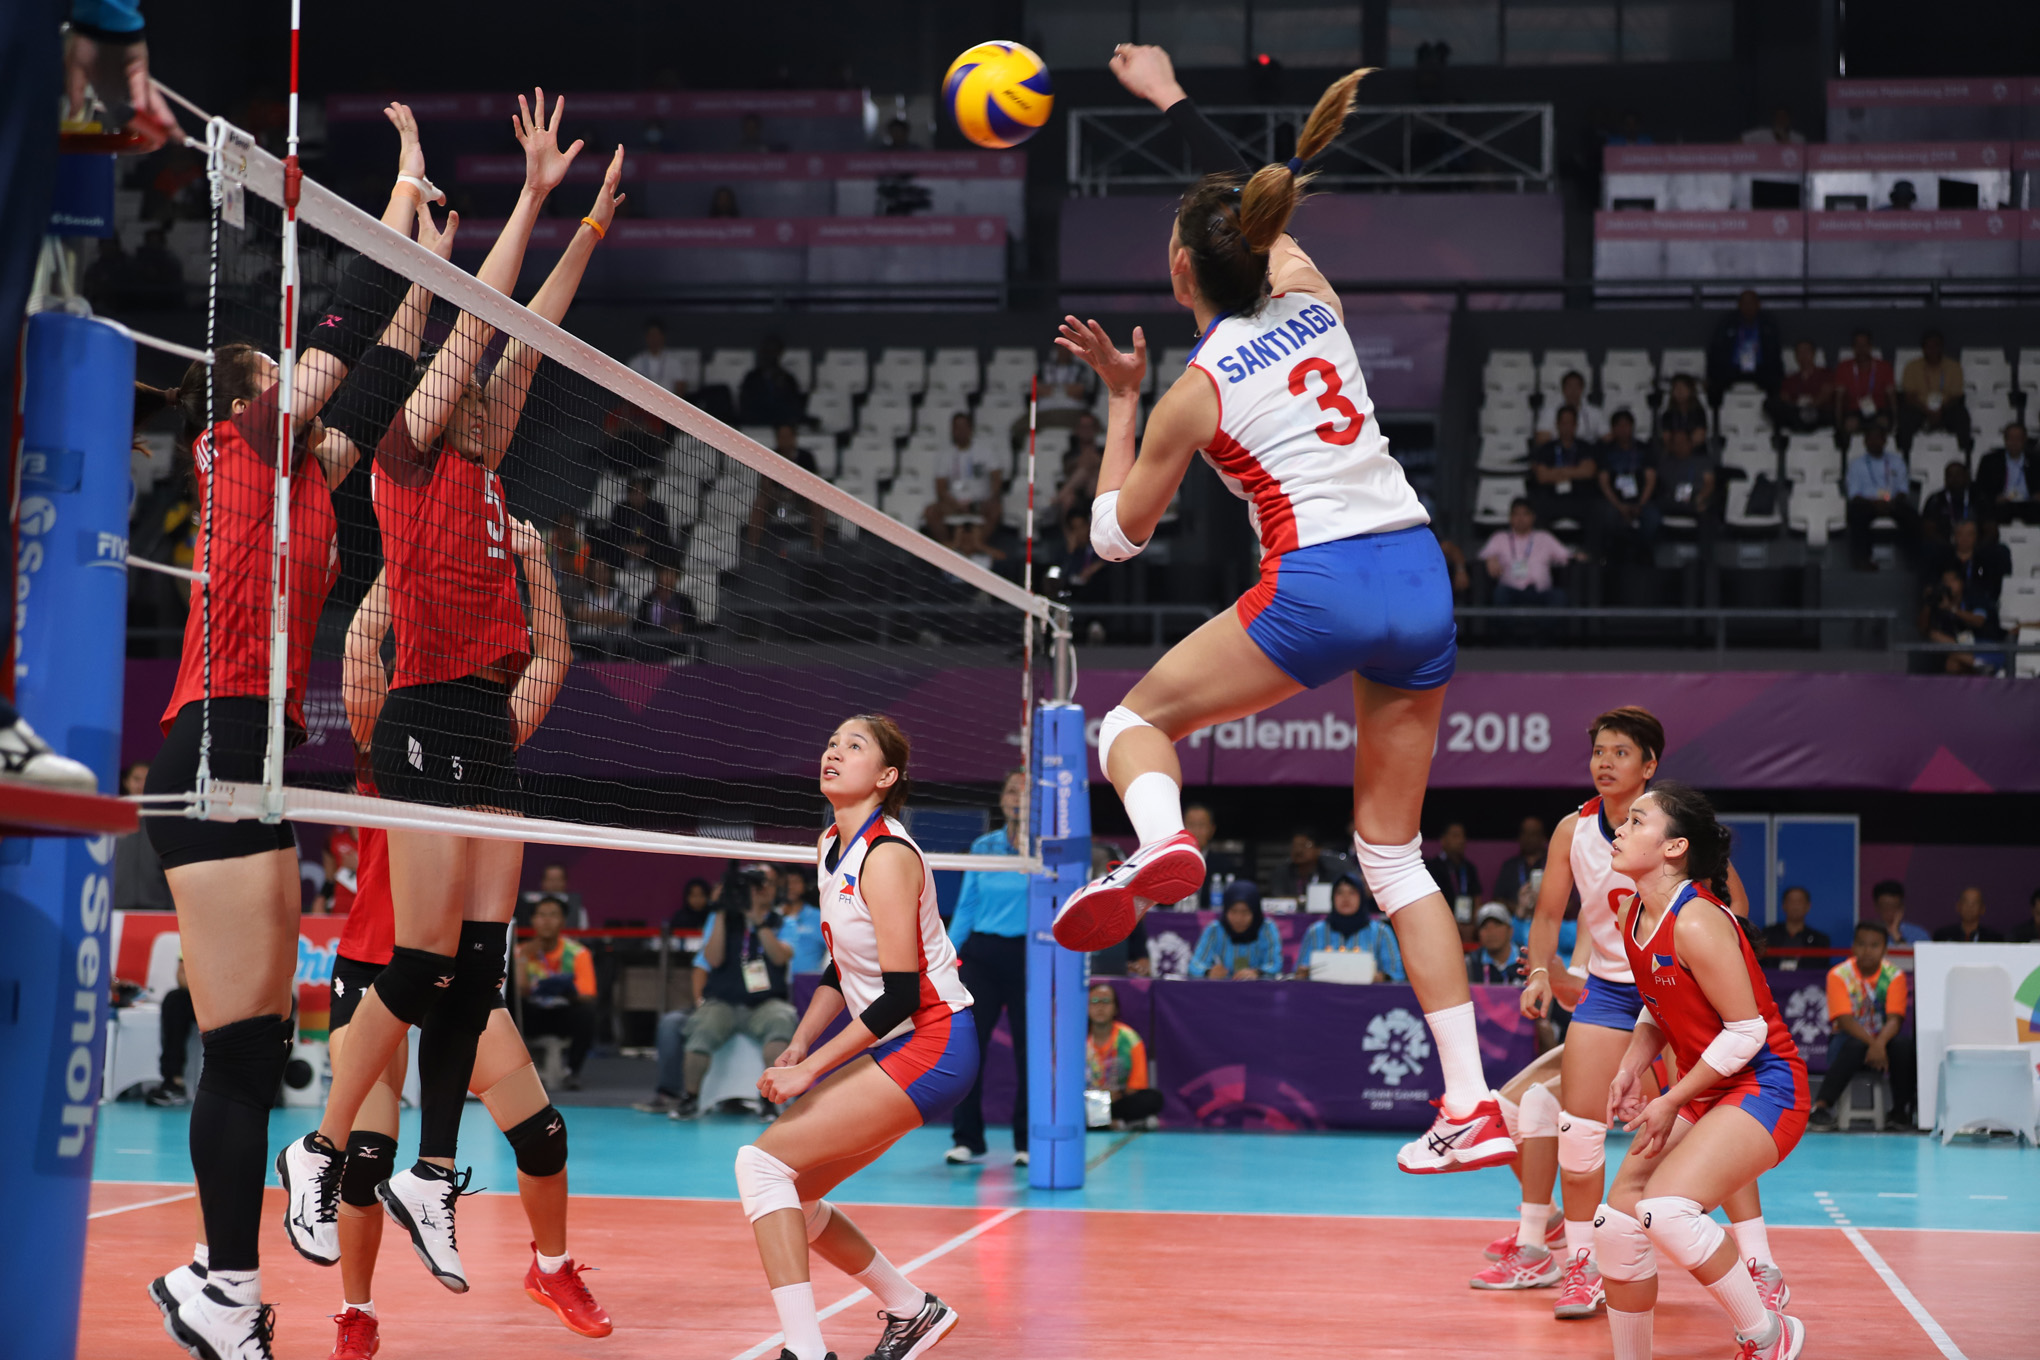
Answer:
MULTIPOLYGON (((220 420, 192 444, 198 483, 196 567, 177 687, 163 710, 163 732, 194 699, 269 693, 269 563, 275 536, 275 416, 269 387, 233 420, 220 420), (206 510, 210 500, 210 514, 206 510), (208 636, 210 628, 210 636, 208 636), (210 659, 208 659, 210 650, 210 659), (210 675, 208 675, 210 671, 210 675)), ((304 728, 304 677, 312 634, 339 575, 333 491, 316 457, 300 455, 290 475, 290 661, 286 716, 304 728)))

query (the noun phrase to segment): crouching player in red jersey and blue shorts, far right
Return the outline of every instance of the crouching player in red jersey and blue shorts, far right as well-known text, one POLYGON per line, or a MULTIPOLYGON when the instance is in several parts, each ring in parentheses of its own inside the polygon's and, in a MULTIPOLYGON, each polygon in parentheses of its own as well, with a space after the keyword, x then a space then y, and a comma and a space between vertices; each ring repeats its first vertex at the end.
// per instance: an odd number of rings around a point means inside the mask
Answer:
POLYGON ((1648 1007, 1608 1091, 1636 1142, 1593 1230, 1616 1360, 1650 1356, 1659 1256, 1722 1305, 1738 1360, 1793 1360, 1805 1327, 1765 1303, 1707 1217, 1791 1154, 1812 1109, 1799 1046, 1724 901, 1728 828, 1703 795, 1665 783, 1616 828, 1614 865, 1636 883, 1620 909, 1622 948, 1648 1007), (1667 1044, 1681 1077, 1644 1101, 1642 1073, 1667 1044))

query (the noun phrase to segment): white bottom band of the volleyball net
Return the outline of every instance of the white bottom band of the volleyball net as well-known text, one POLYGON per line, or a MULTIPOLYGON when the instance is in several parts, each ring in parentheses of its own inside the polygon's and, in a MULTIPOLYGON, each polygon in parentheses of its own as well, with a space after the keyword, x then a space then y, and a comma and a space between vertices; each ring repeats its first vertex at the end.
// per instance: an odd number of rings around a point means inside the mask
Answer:
MULTIPOLYGON (((180 816, 175 807, 145 807, 145 816, 180 816)), ((206 818, 235 822, 257 818, 265 789, 253 783, 212 783, 206 818)), ((190 814, 184 814, 190 816, 190 814)), ((679 832, 641 832, 626 828, 588 826, 583 822, 551 822, 547 818, 512 818, 502 812, 467 807, 428 807, 392 803, 361 793, 328 789, 284 789, 284 818, 316 826, 379 826, 392 832, 439 832, 469 840, 520 840, 543 846, 583 846, 592 850, 643 850, 647 854, 700 854, 704 858, 773 860, 781 865, 812 865, 814 842, 720 840, 716 836, 683 836, 679 832)), ((816 828, 820 834, 820 828, 816 828)), ((965 873, 1038 873, 1040 860, 1026 854, 947 854, 926 852, 930 869, 961 869, 965 873)))

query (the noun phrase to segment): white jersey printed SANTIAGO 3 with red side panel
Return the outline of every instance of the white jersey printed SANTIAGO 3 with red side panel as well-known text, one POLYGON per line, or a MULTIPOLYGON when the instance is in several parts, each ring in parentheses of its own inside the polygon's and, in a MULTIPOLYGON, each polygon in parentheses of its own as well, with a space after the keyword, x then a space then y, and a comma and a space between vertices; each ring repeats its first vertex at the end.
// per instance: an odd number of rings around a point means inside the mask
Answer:
POLYGON ((1204 457, 1246 502, 1263 555, 1430 524, 1375 424, 1353 336, 1318 298, 1214 318, 1189 367, 1218 391, 1204 457))

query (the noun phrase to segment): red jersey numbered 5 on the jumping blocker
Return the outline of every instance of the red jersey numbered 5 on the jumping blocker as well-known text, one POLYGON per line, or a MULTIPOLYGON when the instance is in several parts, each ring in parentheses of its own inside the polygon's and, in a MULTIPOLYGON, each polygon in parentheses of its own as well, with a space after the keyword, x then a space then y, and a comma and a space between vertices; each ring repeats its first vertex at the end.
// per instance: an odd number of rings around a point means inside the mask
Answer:
POLYGON ((375 447, 375 520, 396 630, 390 687, 490 665, 522 671, 530 630, 510 561, 502 481, 447 449, 418 451, 402 412, 375 447))

